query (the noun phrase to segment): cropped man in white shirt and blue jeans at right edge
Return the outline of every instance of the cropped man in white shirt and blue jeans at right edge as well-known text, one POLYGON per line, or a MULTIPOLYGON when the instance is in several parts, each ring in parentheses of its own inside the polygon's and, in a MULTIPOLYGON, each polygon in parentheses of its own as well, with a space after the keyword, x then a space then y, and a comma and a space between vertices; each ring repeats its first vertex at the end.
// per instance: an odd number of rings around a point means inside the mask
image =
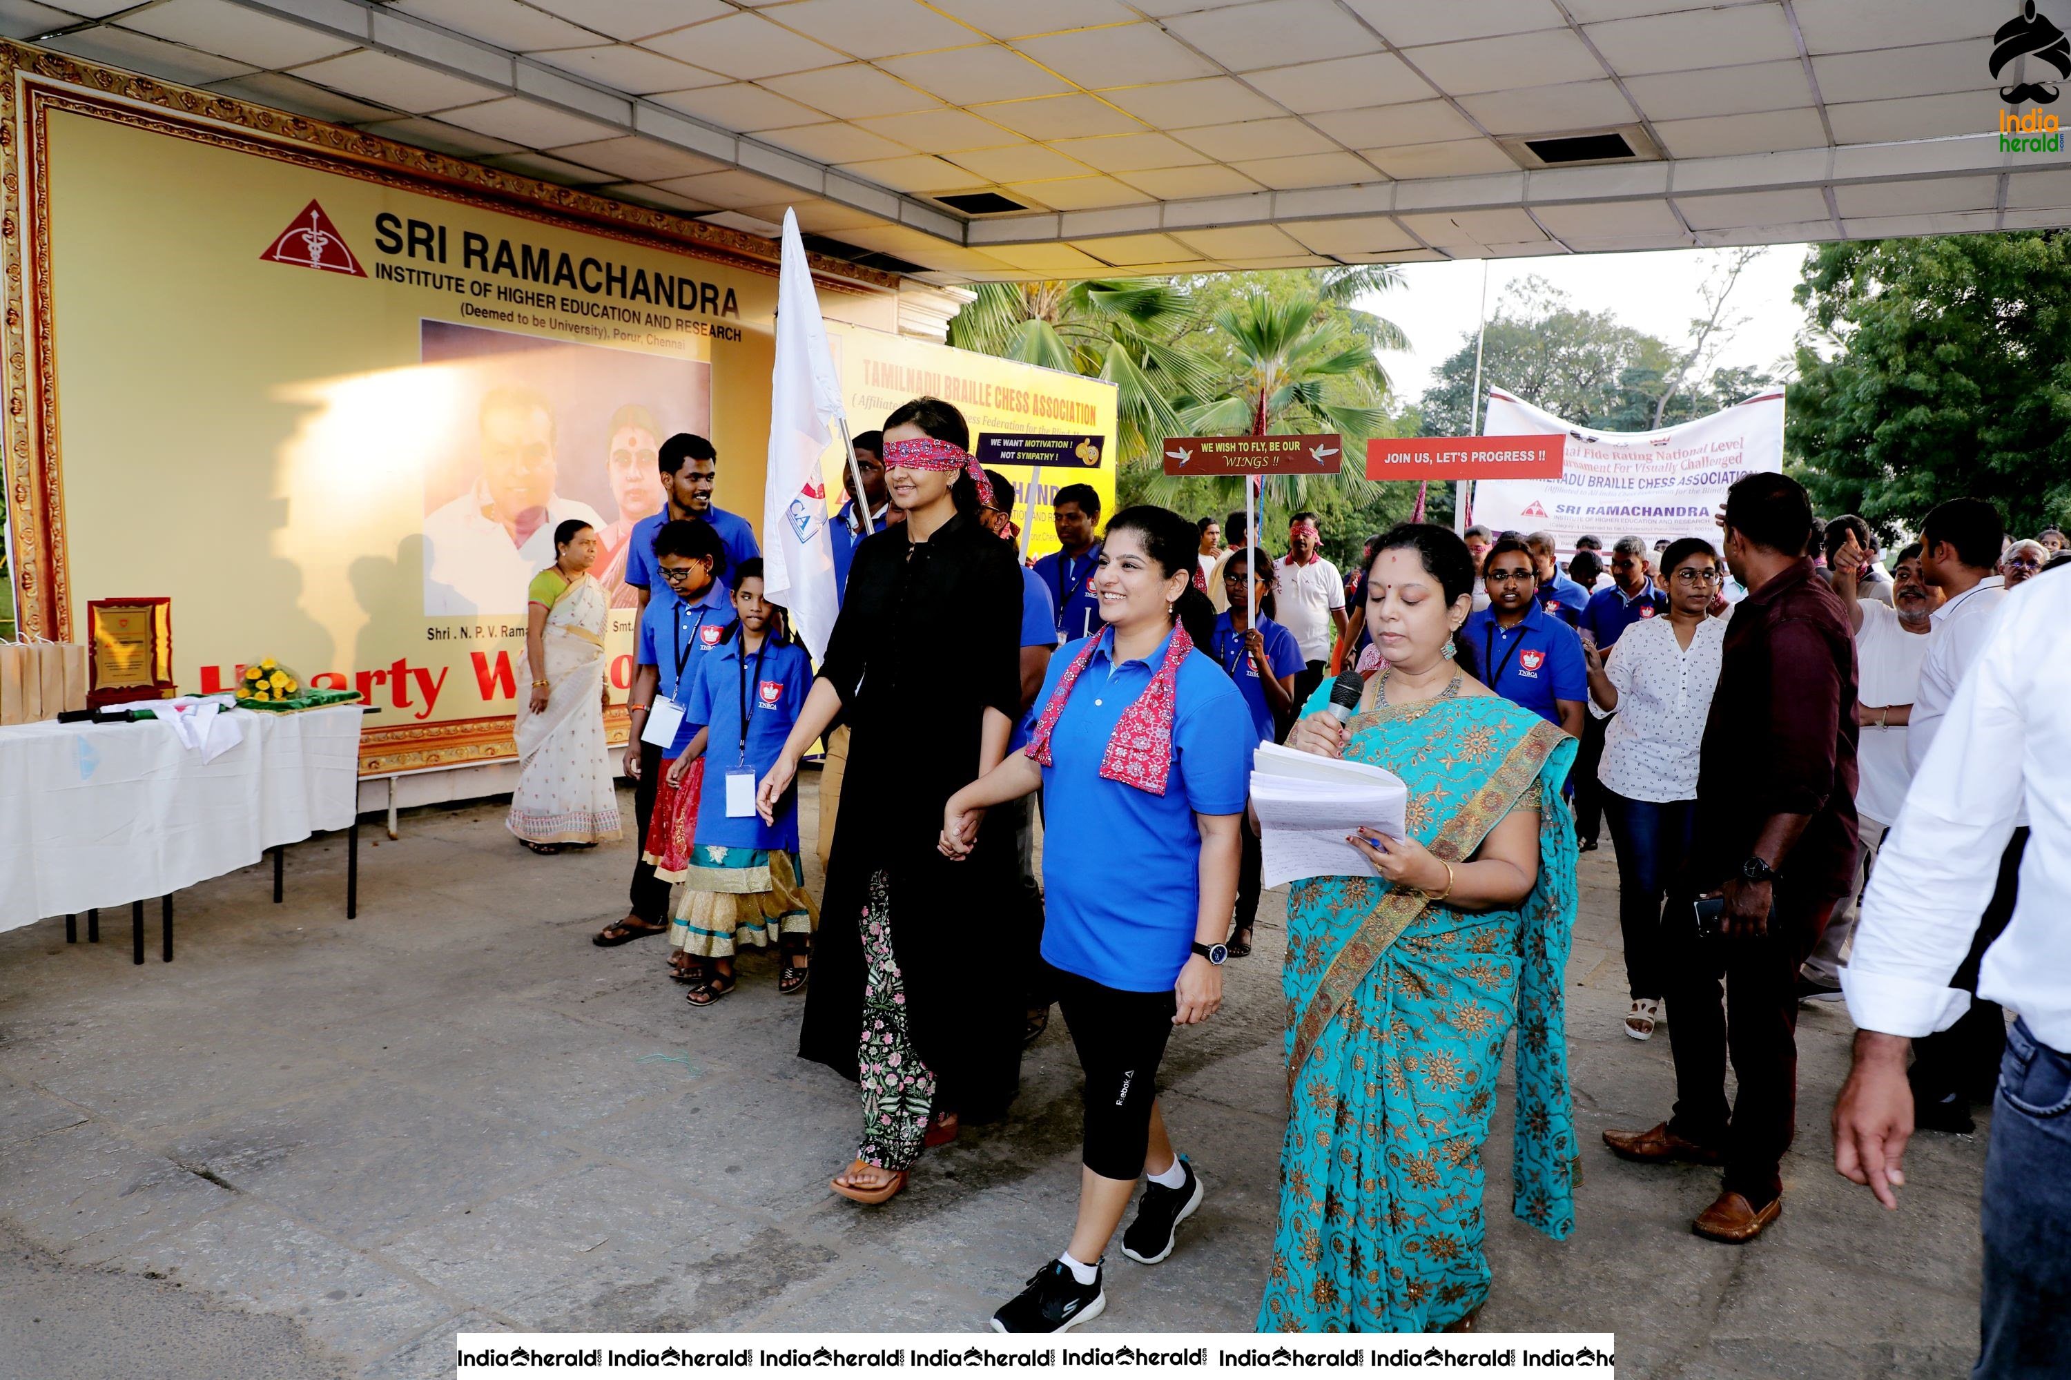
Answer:
MULTIPOLYGON (((2071 1374, 2071 574, 2009 595, 1920 763, 1841 972, 1856 1065, 1833 1109, 1835 1169, 1887 1208, 1914 1129, 1907 1038, 1951 1026, 1951 986, 2025 802, 2019 901, 1978 993, 2021 1013, 2005 1038, 1984 1165, 1984 1316, 1974 1376, 2071 1374), (2009 777, 2013 777, 2009 781, 2009 777)), ((1996 1007, 1994 1007, 1996 1009, 1996 1007)))

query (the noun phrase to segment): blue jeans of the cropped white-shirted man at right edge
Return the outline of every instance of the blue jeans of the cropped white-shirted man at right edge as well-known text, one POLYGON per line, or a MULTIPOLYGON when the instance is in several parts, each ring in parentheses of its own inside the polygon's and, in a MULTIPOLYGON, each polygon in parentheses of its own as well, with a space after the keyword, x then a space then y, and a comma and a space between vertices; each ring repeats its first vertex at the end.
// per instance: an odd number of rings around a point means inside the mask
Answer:
POLYGON ((1984 1310, 1972 1380, 2071 1374, 2071 1055, 2007 1034, 1984 1160, 1984 1310))

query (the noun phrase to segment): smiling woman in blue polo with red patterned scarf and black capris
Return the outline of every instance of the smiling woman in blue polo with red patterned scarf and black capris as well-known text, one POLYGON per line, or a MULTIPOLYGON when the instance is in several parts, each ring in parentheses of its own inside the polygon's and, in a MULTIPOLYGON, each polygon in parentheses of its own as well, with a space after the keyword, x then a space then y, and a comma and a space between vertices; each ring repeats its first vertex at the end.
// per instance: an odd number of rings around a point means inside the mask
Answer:
POLYGON ((1122 1254, 1158 1264, 1201 1204, 1172 1150, 1158 1063, 1172 1026, 1222 1005, 1222 935, 1236 899, 1247 767, 1232 744, 1251 715, 1197 651, 1214 611, 1193 586, 1193 522, 1125 508, 1108 524, 1093 593, 1104 628, 1050 659, 1023 752, 951 796, 942 852, 961 858, 973 816, 1042 787, 1042 955, 1085 1069, 1085 1152, 1071 1247, 992 1316, 998 1332, 1060 1332, 1106 1307, 1102 1254, 1137 1177, 1149 1175, 1122 1254), (1118 858, 1127 866, 1067 866, 1118 858))

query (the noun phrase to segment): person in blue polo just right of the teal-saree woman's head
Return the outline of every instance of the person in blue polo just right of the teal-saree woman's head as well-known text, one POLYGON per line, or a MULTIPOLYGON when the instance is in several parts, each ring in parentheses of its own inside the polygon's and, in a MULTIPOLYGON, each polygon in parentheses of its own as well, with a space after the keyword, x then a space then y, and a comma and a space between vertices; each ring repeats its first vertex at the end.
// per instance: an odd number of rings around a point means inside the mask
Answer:
POLYGON ((1489 607, 1466 615, 1462 640, 1477 661, 1477 678, 1499 696, 1582 736, 1588 667, 1574 628, 1539 605, 1533 549, 1504 537, 1481 566, 1489 607))

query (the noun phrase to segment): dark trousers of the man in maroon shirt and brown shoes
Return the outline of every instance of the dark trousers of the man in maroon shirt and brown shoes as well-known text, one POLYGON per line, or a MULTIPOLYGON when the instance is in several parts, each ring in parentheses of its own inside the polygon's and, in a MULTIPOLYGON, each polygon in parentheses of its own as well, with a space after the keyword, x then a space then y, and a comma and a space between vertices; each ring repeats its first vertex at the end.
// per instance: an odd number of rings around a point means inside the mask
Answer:
POLYGON ((1698 939, 1690 901, 1692 893, 1675 887, 1661 926, 1675 1057, 1669 1129, 1721 1148, 1725 1189, 1760 1208, 1783 1191, 1777 1167, 1798 1119, 1798 968, 1827 928, 1835 899, 1779 887, 1760 939, 1698 939), (1727 1057, 1740 1082, 1731 1104, 1727 1057))

